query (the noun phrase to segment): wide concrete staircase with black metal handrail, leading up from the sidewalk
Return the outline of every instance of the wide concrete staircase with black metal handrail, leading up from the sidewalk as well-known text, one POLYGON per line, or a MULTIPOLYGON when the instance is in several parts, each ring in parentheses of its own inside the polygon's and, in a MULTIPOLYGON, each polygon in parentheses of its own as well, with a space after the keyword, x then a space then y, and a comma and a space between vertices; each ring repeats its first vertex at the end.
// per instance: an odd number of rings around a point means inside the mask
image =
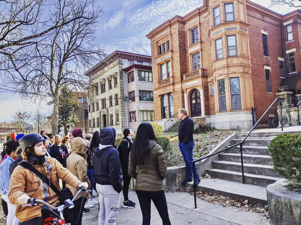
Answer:
MULTIPOLYGON (((232 139, 230 144, 240 143, 246 134, 246 132, 237 133, 237 139, 232 139)), ((212 168, 206 170, 206 173, 213 175, 215 179, 201 179, 197 190, 215 192, 234 199, 247 199, 253 204, 267 204, 267 185, 281 179, 273 170, 267 147, 278 134, 254 132, 245 140, 243 145, 245 184, 242 184, 239 149, 231 148, 225 153, 220 153, 218 160, 212 162, 212 168)), ((192 184, 193 182, 190 182, 190 188, 193 188, 192 184)))

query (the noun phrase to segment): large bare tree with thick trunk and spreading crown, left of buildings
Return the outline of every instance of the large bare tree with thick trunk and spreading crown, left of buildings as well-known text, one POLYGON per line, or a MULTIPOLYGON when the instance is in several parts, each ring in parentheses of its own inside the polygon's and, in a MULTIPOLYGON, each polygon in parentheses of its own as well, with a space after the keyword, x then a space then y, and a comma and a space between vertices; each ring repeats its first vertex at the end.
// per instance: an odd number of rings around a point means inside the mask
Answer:
POLYGON ((89 91, 89 79, 83 73, 106 56, 94 43, 102 14, 95 0, 56 1, 49 21, 55 23, 64 17, 71 22, 9 58, 4 73, 6 84, 21 91, 21 97, 29 101, 42 101, 46 95, 53 99, 52 134, 57 133, 62 88, 89 91))

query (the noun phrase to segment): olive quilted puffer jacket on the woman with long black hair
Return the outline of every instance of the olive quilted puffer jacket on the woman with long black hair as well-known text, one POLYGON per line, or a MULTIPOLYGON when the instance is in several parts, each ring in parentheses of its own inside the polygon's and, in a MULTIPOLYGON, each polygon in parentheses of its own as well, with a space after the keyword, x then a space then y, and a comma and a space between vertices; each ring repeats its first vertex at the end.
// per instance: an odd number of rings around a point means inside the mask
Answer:
POLYGON ((138 165, 136 173, 136 165, 131 163, 131 154, 129 154, 128 173, 136 179, 136 190, 140 191, 162 191, 162 180, 166 176, 166 162, 164 151, 161 146, 154 140, 149 143, 150 157, 145 165, 138 165))

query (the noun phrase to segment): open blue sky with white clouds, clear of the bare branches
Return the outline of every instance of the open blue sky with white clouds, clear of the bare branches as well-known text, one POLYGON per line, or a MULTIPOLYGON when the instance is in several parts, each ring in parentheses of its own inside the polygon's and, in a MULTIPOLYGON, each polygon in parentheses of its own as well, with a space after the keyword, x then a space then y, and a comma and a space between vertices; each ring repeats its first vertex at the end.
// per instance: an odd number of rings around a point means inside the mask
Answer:
MULTIPOLYGON (((268 7, 270 0, 252 0, 268 7)), ((99 1, 105 14, 97 31, 96 42, 108 54, 114 50, 150 55, 150 40, 145 37, 151 30, 175 15, 184 16, 202 5, 202 0, 110 0, 99 1)), ((286 7, 271 8, 278 13, 289 12, 286 7)), ((1 82, 2 84, 2 82, 1 82)), ((3 86, 1 86, 3 87, 3 86)), ((45 99, 39 105, 41 112, 50 114, 52 106, 45 99)), ((35 103, 22 102, 18 94, 0 92, 0 122, 9 122, 18 110, 35 111, 35 103)))

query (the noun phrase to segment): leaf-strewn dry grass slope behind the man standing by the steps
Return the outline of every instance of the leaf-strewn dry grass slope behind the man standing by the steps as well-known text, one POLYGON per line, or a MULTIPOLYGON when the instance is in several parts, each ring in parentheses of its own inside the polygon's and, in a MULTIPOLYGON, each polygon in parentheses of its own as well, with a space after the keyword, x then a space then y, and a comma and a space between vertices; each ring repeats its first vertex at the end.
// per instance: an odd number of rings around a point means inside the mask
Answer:
MULTIPOLYGON (((198 159, 207 155, 225 138, 235 132, 235 130, 213 130, 204 134, 194 134, 193 158, 198 159)), ((173 148, 172 151, 166 153, 167 166, 184 166, 185 164, 178 145, 178 136, 169 136, 169 139, 172 143, 173 148)))

